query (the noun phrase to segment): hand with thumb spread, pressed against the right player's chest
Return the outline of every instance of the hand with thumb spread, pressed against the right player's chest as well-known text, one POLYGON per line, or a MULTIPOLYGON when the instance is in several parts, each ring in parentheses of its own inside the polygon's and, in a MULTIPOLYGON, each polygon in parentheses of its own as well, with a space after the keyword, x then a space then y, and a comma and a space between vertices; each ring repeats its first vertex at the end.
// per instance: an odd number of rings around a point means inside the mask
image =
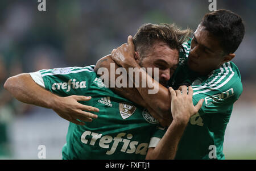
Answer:
POLYGON ((172 117, 176 122, 187 124, 191 116, 195 115, 202 107, 204 99, 193 105, 192 95, 193 89, 191 86, 180 86, 179 90, 174 90, 169 87, 171 93, 171 112, 172 117), (182 93, 181 93, 181 91, 182 93))

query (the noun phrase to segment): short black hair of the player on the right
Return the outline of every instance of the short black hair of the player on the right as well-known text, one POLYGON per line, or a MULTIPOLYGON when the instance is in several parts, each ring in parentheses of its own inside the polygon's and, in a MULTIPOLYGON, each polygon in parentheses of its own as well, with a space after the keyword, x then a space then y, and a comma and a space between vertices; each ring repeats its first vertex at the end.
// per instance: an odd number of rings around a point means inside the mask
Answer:
POLYGON ((218 37, 224 53, 234 53, 245 35, 241 16, 229 10, 217 10, 204 15, 200 23, 218 37))

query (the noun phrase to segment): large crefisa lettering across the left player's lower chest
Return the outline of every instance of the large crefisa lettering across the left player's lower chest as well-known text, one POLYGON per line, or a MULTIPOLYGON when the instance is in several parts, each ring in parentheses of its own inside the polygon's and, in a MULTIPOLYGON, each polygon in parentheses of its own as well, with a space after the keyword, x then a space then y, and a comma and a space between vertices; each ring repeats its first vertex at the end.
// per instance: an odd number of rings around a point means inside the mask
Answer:
POLYGON ((81 135, 81 141, 84 144, 95 145, 96 141, 98 140, 97 144, 101 148, 108 149, 106 151, 106 155, 113 155, 118 145, 122 145, 121 152, 146 155, 148 143, 139 144, 138 141, 131 141, 132 138, 132 134, 126 134, 125 132, 121 132, 115 137, 112 137, 110 135, 102 136, 102 134, 91 131, 85 131, 81 135), (112 147, 110 147, 110 144, 112 144, 112 147))

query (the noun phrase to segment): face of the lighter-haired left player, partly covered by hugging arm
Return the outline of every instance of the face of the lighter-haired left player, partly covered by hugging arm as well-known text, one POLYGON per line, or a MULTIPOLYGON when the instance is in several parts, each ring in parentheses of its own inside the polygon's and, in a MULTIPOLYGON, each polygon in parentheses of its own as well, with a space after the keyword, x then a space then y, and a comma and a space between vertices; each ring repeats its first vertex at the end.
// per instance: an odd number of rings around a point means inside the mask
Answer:
POLYGON ((166 86, 179 64, 179 52, 177 49, 168 47, 166 43, 159 42, 153 46, 147 56, 138 62, 147 69, 147 72, 148 68, 152 68, 152 78, 155 78, 154 69, 159 68, 159 83, 166 86))

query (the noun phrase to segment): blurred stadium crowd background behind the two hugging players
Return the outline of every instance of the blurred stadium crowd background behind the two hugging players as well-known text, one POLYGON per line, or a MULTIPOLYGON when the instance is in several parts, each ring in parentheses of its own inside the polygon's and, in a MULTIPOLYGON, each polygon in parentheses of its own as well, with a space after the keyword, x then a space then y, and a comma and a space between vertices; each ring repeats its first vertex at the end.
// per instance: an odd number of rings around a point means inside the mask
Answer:
MULTIPOLYGON (((96 64, 126 43, 144 23, 176 23, 196 30, 208 0, 0 1, 0 159, 38 159, 46 145, 47 159, 61 159, 68 122, 52 110, 25 105, 3 89, 15 74, 39 69, 96 64)), ((256 1, 217 0, 217 9, 241 15, 245 37, 234 58, 242 76, 243 94, 235 103, 225 134, 226 159, 256 159, 256 1)))

